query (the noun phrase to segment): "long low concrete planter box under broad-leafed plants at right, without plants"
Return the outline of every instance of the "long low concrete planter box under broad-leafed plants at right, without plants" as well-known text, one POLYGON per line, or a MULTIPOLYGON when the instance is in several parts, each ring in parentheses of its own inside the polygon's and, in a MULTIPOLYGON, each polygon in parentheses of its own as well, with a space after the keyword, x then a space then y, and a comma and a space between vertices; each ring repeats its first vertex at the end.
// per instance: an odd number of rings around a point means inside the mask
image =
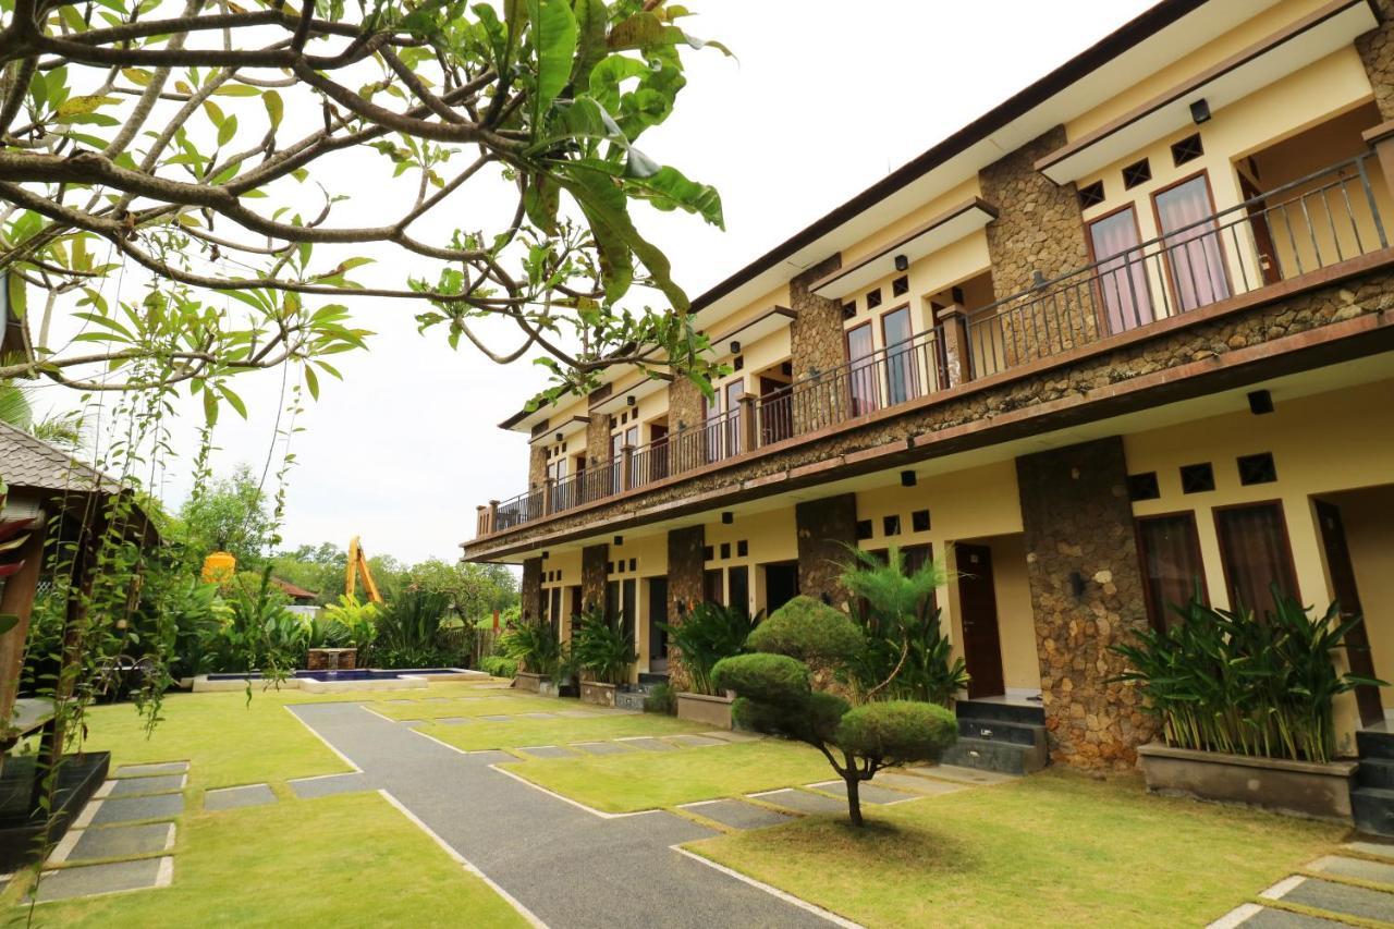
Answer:
POLYGON ((1351 783, 1359 762, 1288 762, 1197 752, 1151 742, 1139 746, 1147 790, 1174 796, 1248 803, 1278 813, 1351 820, 1351 783))

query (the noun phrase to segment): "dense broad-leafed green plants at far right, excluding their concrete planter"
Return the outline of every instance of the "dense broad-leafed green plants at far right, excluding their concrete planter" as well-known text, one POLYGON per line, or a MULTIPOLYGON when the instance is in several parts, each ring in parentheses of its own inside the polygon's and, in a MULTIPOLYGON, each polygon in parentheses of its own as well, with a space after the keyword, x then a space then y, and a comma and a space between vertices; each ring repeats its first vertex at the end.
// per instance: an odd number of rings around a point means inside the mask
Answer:
POLYGON ((1220 610, 1199 589, 1172 605, 1179 622, 1135 632, 1112 646, 1168 745, 1232 755, 1327 762, 1335 753, 1337 695, 1383 681, 1340 672, 1334 658, 1361 617, 1341 619, 1338 604, 1309 615, 1276 584, 1274 610, 1220 610))

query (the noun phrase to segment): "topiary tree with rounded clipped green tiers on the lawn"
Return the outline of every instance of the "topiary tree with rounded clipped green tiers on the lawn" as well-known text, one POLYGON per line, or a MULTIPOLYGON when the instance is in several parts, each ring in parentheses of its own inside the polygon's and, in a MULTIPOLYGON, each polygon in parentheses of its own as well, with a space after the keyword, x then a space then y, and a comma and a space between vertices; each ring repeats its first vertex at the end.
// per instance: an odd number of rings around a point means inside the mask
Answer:
POLYGON ((814 689, 810 665, 852 664, 867 642, 843 612, 813 597, 775 610, 747 644, 751 654, 717 663, 712 683, 736 692, 732 716, 740 725, 822 752, 848 785, 853 826, 863 824, 861 781, 884 767, 934 760, 958 739, 958 721, 942 706, 885 700, 853 707, 814 689))

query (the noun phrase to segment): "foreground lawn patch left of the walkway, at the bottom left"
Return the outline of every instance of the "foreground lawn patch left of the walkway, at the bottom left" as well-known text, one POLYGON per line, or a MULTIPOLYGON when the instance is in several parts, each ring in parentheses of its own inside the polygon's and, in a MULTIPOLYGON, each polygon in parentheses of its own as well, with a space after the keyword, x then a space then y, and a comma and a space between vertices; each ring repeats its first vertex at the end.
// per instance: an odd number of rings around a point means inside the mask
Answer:
MULTIPOLYGON (((4 900, 15 902, 15 890, 4 900)), ((447 912, 527 925, 381 795, 344 794, 185 816, 170 887, 40 904, 36 922, 424 926, 447 912)))

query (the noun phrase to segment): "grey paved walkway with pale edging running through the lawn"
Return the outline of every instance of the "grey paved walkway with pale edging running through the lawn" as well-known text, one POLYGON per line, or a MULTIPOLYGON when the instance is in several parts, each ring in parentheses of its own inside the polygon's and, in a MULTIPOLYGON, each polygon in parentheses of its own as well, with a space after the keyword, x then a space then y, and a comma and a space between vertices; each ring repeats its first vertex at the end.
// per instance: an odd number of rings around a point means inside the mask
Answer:
MULTIPOLYGON (((666 812, 597 816, 350 703, 290 707, 362 774, 326 790, 382 788, 491 880, 560 928, 818 926, 829 921, 672 845, 715 831, 666 812)), ((298 781, 309 788, 312 781, 298 781)), ((461 921, 467 916, 460 914, 461 921)), ((846 923, 843 923, 846 925, 846 923)))

